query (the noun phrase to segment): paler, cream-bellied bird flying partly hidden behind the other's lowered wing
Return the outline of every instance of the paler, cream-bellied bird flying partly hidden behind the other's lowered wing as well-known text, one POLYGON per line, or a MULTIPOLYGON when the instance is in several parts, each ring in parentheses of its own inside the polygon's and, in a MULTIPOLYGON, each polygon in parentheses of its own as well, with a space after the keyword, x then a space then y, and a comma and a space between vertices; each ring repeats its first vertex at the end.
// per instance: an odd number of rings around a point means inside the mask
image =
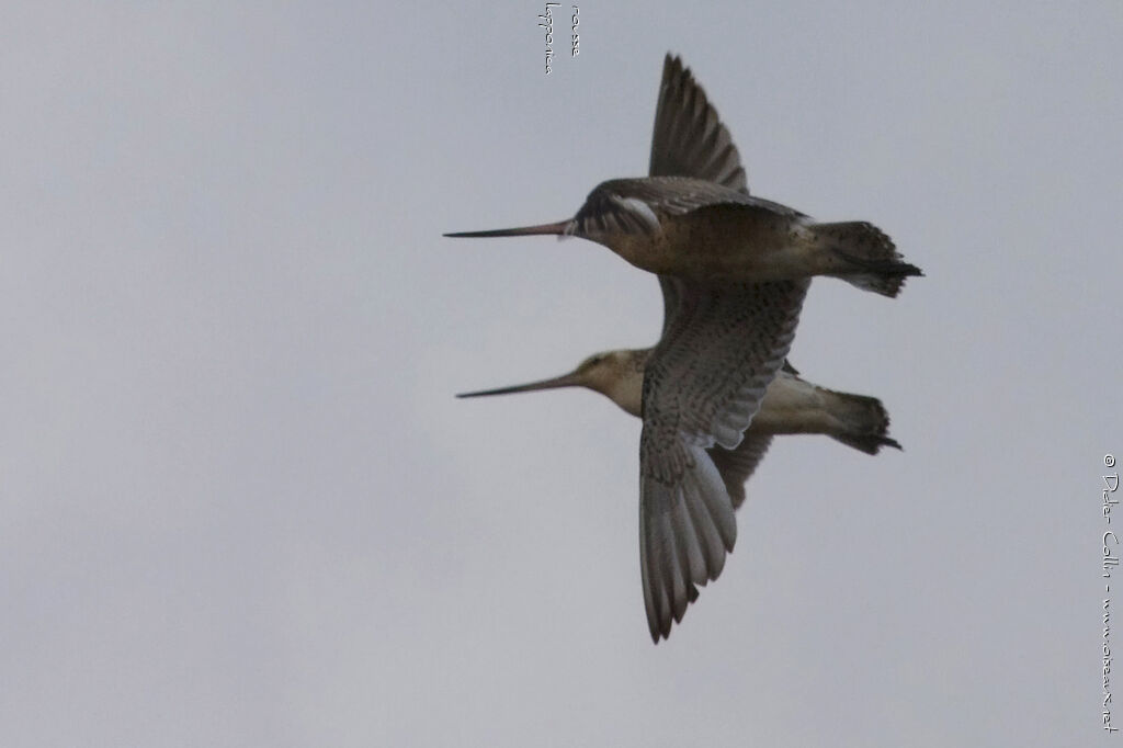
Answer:
MULTIPOLYGON (((457 398, 585 387, 599 392, 626 413, 641 417, 643 370, 651 348, 605 350, 585 358, 575 370, 548 380, 513 386, 462 392, 457 398)), ((882 447, 901 449, 888 436, 889 414, 877 398, 837 392, 812 384, 789 363, 765 390, 760 410, 734 449, 707 449, 737 510, 745 502, 745 483, 764 458, 774 436, 822 434, 867 455, 882 447)))

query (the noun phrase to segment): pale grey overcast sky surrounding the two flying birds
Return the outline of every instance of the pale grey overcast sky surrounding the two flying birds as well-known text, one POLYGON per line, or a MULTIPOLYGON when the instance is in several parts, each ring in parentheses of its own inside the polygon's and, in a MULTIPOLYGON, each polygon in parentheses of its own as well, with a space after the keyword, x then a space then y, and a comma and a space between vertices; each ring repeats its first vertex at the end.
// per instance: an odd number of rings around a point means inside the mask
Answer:
POLYGON ((1123 6, 566 4, 547 76, 545 3, 426 4, 3 11, 0 744, 1107 740, 1123 6), (656 647, 639 421, 453 398, 652 344, 654 277, 440 235, 641 175, 667 51, 926 277, 812 285, 905 450, 777 439, 656 647))

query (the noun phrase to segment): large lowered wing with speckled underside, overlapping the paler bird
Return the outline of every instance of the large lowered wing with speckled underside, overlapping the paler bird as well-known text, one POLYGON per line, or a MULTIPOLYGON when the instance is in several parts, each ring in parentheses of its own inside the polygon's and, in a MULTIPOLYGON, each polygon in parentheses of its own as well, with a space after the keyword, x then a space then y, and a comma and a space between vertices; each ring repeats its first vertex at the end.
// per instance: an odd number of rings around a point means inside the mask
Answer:
POLYGON ((792 346, 809 285, 660 283, 664 335, 643 374, 640 437, 640 567, 656 641, 733 548, 733 500, 705 450, 740 444, 792 346))

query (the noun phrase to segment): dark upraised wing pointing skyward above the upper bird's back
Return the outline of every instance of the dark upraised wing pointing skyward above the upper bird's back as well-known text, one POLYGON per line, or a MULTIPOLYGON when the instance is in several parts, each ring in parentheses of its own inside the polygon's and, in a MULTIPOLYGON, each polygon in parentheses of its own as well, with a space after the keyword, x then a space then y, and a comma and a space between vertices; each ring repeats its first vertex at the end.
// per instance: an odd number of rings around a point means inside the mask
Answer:
POLYGON ((663 62, 648 174, 693 176, 749 192, 741 156, 718 110, 682 60, 669 54, 663 62))

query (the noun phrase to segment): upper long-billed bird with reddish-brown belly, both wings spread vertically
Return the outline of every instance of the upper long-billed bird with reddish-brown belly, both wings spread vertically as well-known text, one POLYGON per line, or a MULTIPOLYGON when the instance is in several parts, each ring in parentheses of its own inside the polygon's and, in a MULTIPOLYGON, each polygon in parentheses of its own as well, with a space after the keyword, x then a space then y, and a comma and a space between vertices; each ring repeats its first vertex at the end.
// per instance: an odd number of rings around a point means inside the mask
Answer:
POLYGON ((640 577, 658 644, 733 549, 737 492, 711 455, 736 454, 787 358, 811 277, 830 271, 895 297, 920 270, 868 224, 813 224, 751 198, 729 130, 669 54, 648 171, 602 183, 568 221, 447 236, 584 236, 658 276, 663 330, 639 403, 640 577))

